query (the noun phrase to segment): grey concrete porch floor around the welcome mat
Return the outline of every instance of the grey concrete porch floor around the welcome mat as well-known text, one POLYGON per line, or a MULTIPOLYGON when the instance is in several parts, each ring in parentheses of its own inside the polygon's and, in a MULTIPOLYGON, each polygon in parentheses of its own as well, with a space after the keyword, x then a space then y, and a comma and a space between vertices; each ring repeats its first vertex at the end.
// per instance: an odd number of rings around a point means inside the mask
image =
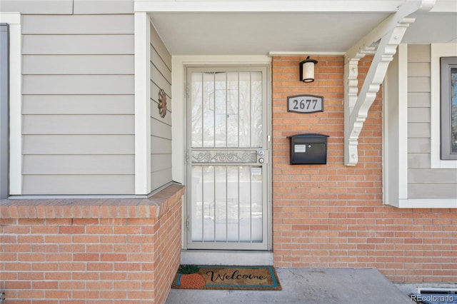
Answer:
POLYGON ((282 290, 171 289, 166 303, 414 303, 376 269, 276 268, 282 290))

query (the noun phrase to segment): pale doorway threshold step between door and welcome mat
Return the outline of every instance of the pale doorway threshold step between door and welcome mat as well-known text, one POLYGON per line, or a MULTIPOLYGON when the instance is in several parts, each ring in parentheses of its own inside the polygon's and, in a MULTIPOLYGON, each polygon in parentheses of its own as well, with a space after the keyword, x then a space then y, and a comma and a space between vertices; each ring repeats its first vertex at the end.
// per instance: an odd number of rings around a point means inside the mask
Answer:
POLYGON ((181 250, 181 264, 273 265, 273 251, 260 250, 181 250))

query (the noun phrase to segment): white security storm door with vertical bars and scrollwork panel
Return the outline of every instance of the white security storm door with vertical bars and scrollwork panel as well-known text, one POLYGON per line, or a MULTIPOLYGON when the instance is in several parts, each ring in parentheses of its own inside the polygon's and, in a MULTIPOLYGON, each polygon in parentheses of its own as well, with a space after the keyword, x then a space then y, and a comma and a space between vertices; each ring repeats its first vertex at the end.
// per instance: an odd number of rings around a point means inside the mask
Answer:
POLYGON ((188 67, 187 248, 268 248, 267 68, 188 67))

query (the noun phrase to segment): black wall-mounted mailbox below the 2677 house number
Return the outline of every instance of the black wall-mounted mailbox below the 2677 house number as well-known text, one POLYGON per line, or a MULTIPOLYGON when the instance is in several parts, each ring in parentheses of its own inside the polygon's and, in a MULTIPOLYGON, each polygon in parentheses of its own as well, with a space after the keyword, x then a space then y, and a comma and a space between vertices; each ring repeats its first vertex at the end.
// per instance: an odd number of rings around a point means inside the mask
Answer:
POLYGON ((291 165, 326 164, 327 138, 324 134, 297 134, 291 141, 291 165))

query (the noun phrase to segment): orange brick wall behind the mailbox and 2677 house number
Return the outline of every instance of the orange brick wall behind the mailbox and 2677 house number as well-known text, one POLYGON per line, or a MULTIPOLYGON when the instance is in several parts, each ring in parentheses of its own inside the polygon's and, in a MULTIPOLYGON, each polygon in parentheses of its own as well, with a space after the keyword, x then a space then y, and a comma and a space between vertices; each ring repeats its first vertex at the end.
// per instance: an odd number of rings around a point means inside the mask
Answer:
MULTIPOLYGON (((457 212, 382 203, 381 93, 343 164, 343 57, 314 56, 316 81, 298 81, 305 57, 273 57, 273 252, 278 267, 377 268, 394 282, 455 283, 457 212), (323 96, 324 112, 288 113, 287 96, 323 96), (328 136, 326 165, 289 165, 287 136, 328 136)), ((359 64, 359 78, 370 58, 359 64)))

